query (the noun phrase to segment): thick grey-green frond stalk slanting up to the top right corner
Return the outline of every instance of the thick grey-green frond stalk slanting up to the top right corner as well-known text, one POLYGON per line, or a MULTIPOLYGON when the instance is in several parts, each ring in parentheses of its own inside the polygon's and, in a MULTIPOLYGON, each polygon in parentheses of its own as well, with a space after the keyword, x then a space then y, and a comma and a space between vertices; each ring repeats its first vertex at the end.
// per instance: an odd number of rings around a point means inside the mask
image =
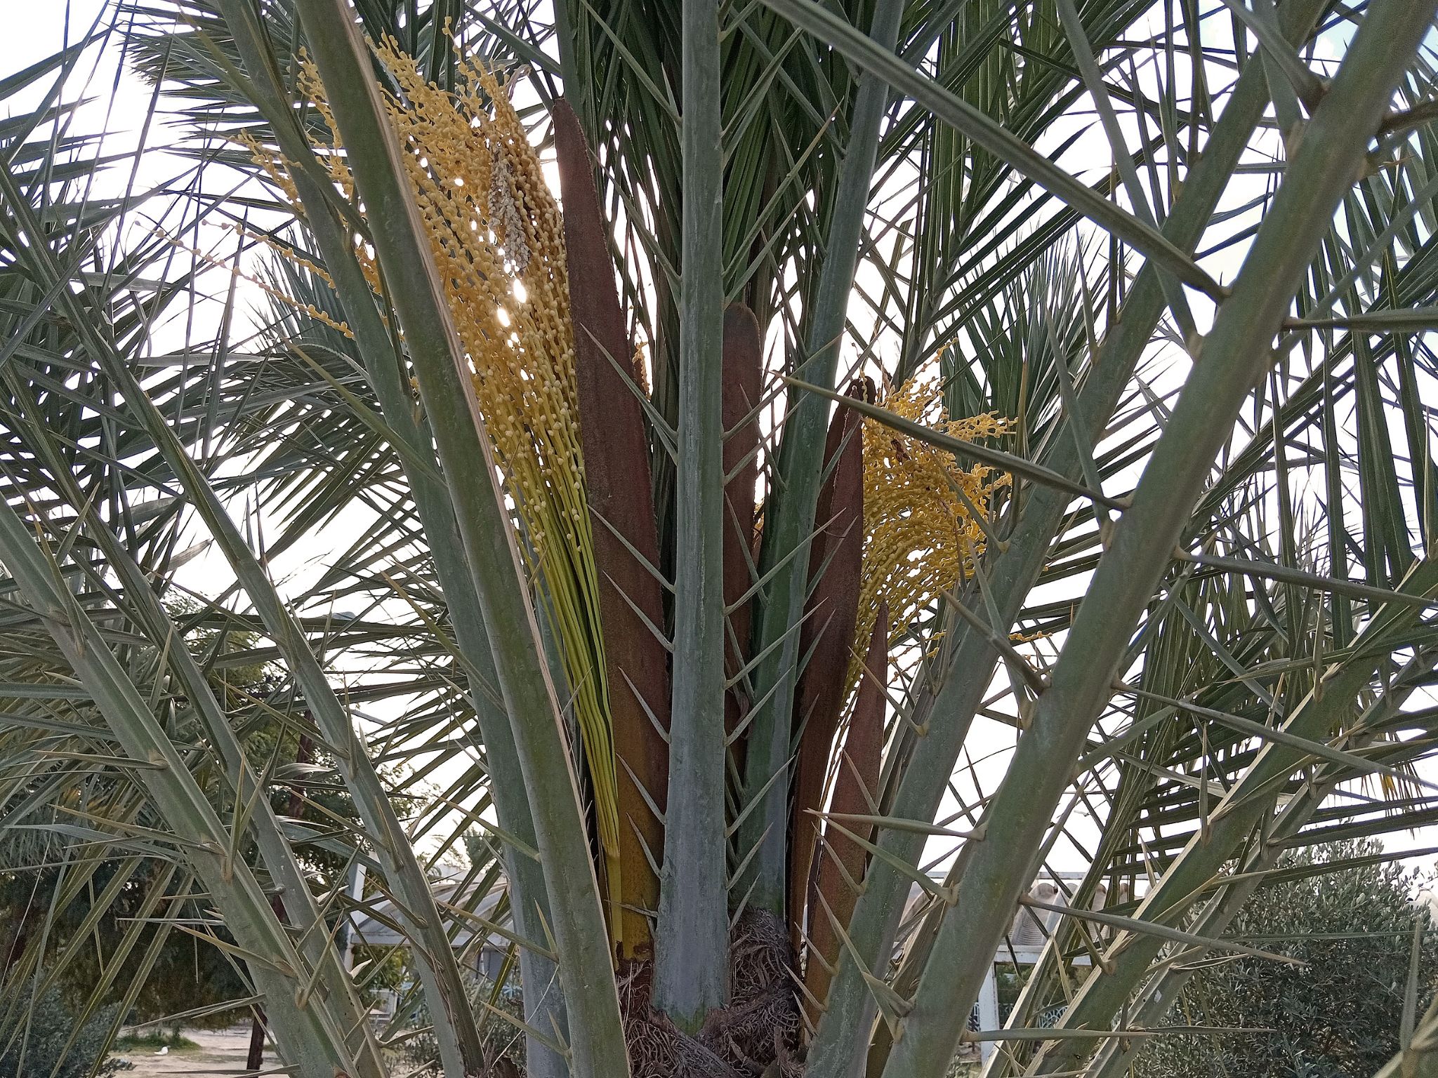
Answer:
POLYGON ((1012 904, 1031 878, 1032 865, 1012 851, 1040 848, 1068 770, 1112 693, 1132 627, 1172 558, 1238 408, 1267 367, 1294 289, 1353 184, 1435 9, 1438 0, 1372 9, 1310 119, 1133 505, 1114 528, 1032 724, 985 811, 985 838, 958 883, 953 908, 884 1067, 886 1078, 940 1075, 953 1058, 961 1031, 952 1016, 966 1013, 978 998, 1012 904))

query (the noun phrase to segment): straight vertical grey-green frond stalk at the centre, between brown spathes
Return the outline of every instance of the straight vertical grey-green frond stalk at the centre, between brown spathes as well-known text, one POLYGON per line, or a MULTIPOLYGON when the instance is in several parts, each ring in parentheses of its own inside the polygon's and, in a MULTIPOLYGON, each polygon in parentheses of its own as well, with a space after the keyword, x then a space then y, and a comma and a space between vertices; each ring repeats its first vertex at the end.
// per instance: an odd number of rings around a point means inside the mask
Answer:
POLYGON ((684 1032, 729 1002, 725 835, 723 157, 719 4, 684 0, 679 459, 669 802, 654 1006, 684 1032))

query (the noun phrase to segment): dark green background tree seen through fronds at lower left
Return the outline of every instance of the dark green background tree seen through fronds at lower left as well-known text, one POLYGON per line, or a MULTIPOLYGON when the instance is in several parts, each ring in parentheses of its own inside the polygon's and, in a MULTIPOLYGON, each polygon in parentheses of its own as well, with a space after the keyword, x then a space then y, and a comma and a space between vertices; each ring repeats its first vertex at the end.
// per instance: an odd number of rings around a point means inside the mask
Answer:
MULTIPOLYGON (((184 634, 186 647, 211 664, 209 683, 236 719, 243 750, 253 759, 270 760, 273 773, 283 780, 269 795, 275 811, 288 815, 295 795, 303 789, 302 805, 308 801, 329 828, 347 826, 354 819, 354 806, 332 769, 313 759, 295 766, 301 734, 293 719, 275 707, 286 706, 285 701, 273 697, 266 709, 253 710, 279 686, 275 671, 262 658, 256 660, 255 634, 214 631, 204 624, 203 607, 194 601, 173 601, 167 611, 191 625, 184 634)), ((12 627, 0 641, 10 654, 27 654, 32 670, 55 668, 60 663, 45 647, 47 641, 37 640, 23 627, 12 627)), ((144 655, 141 661, 154 661, 154 655, 144 655)), ((184 743, 196 737, 196 729, 184 713, 184 701, 177 700, 177 704, 173 737, 184 743)), ((72 703, 72 713, 83 723, 98 720, 93 707, 81 701, 72 703)), ((104 1044, 125 1022, 152 1022, 177 1013, 197 1012, 190 1019, 196 1025, 233 1022, 233 1008, 226 1005, 243 999, 247 992, 243 964, 236 962, 229 933, 223 926, 214 927, 217 937, 232 947, 226 952, 194 934, 148 923, 157 895, 164 895, 177 883, 173 867, 161 860, 99 857, 86 867, 86 861, 95 860, 95 845, 78 845, 73 839, 85 837, 83 821, 102 811, 96 806, 115 805, 124 798, 124 786, 105 770, 63 778, 69 785, 47 791, 43 780, 30 776, 24 792, 32 798, 47 793, 50 802, 0 838, 0 923, 6 926, 0 941, 0 976, 17 987, 39 977, 43 1006, 53 1012, 46 1018, 45 1038, 55 1036, 62 1026, 70 1032, 75 1028, 72 1010, 93 1016, 83 1038, 96 1044, 104 1044), (206 1013, 210 1009, 213 1018, 206 1013)), ((197 780, 216 808, 223 808, 223 782, 213 769, 200 769, 197 780)), ((131 822, 147 832, 165 826, 148 805, 142 805, 131 822)), ((296 841, 295 851, 313 888, 345 885, 348 861, 334 848, 296 841)), ((240 855, 255 862, 253 842, 247 842, 240 855)), ((183 888, 170 891, 161 908, 183 924, 206 920, 203 895, 187 897, 183 888)), ((29 1010, 12 1002, 0 1023, 0 1044, 14 1049, 12 1062, 19 1062, 20 1044, 36 1035, 29 1010)), ((46 1071, 59 1059, 59 1048, 53 1046, 46 1056, 50 1059, 45 1064, 46 1071)), ((81 1041, 73 1051, 81 1052, 81 1041)), ((32 1056, 30 1067, 42 1064, 32 1056)))

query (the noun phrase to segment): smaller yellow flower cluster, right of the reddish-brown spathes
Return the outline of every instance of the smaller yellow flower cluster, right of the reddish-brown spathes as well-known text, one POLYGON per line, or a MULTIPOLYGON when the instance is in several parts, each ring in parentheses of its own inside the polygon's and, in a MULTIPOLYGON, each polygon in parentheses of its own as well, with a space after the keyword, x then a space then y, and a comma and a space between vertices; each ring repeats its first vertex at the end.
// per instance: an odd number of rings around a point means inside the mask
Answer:
MULTIPOLYGON (((975 441, 1007 434, 992 413, 951 420, 935 377, 915 375, 890 388, 880 404, 896 415, 975 441)), ((899 640, 943 589, 952 589, 984 550, 984 530, 969 506, 988 513, 1007 474, 985 464, 962 469, 952 453, 864 420, 864 561, 858 624, 848 686, 858 683, 861 657, 887 601, 890 642, 899 640), (962 492, 962 496, 961 496, 962 492), (965 505, 968 499, 968 505, 965 505)))

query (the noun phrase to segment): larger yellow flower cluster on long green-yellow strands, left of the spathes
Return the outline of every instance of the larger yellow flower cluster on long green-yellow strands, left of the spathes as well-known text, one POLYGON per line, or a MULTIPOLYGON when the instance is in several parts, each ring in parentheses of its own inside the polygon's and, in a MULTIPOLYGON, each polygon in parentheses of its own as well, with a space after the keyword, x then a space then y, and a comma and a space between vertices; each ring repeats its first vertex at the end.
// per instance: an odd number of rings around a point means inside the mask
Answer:
MULTIPOLYGON (((600 839, 617 849, 614 749, 584 496, 578 381, 559 207, 505 86, 463 63, 456 91, 427 82, 397 42, 374 47, 398 86, 387 95, 410 187, 429 231, 475 392, 515 510, 526 568, 559 641, 594 785, 600 839)), ((338 132, 312 62, 301 91, 338 132)), ((338 134, 321 160, 354 198, 338 134)), ((293 191, 276 171, 276 183, 293 191)), ((357 249, 380 287, 374 252, 357 249)))

